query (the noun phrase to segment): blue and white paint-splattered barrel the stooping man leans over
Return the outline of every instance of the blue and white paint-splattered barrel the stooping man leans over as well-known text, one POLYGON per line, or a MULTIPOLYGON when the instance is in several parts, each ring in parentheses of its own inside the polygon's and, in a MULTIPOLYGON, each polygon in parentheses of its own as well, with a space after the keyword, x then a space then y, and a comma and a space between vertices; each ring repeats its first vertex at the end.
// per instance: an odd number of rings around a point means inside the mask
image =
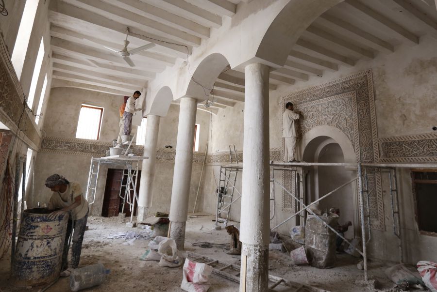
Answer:
POLYGON ((36 286, 59 277, 68 214, 49 218, 47 208, 24 210, 12 278, 15 286, 36 286))

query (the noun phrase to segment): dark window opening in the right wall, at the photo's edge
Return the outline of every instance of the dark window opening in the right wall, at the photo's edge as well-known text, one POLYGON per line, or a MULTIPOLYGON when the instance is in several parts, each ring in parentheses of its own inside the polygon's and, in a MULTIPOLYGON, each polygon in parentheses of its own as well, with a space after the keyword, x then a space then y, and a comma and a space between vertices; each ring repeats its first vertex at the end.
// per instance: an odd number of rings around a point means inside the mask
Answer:
POLYGON ((413 171, 412 178, 419 230, 437 235, 437 171, 413 171))

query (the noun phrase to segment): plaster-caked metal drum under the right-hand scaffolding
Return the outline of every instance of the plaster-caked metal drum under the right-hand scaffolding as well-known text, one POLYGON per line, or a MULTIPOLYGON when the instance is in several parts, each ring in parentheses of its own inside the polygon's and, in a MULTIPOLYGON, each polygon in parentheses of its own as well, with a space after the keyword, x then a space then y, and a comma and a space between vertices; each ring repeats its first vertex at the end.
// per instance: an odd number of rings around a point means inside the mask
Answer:
MULTIPOLYGON (((335 229, 338 216, 320 216, 320 218, 335 229)), ((327 269, 336 263, 337 235, 319 219, 308 215, 305 224, 305 251, 308 261, 313 267, 327 269)))

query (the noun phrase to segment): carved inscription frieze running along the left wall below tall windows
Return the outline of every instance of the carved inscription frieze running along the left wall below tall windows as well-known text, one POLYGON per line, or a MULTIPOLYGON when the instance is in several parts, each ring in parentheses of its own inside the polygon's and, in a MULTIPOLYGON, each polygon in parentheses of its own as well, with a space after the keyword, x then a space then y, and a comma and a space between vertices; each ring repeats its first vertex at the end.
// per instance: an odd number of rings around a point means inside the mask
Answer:
POLYGON ((23 140, 37 149, 39 132, 23 105, 23 91, 9 57, 3 39, 0 37, 0 121, 15 134, 21 130, 23 140))

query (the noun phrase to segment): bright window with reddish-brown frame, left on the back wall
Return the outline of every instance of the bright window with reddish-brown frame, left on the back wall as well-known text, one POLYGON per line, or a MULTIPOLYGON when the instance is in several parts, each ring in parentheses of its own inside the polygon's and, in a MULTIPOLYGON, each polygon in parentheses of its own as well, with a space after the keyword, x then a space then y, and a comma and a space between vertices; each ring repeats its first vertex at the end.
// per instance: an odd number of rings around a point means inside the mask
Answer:
POLYGON ((103 108, 82 105, 77 123, 76 138, 98 140, 103 108))

